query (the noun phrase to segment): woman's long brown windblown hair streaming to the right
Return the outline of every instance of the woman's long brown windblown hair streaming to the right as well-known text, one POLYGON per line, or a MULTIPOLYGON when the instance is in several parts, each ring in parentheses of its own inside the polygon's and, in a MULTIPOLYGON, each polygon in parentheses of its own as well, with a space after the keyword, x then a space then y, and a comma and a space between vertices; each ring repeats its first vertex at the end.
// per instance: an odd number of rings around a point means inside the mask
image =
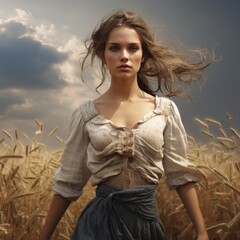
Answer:
POLYGON ((85 41, 87 52, 83 58, 81 70, 83 72, 88 57, 91 56, 91 65, 96 57, 99 58, 102 79, 98 87, 104 83, 107 74, 104 61, 106 42, 111 31, 120 26, 132 28, 139 35, 144 61, 138 72, 138 85, 151 95, 159 91, 168 97, 185 95, 180 85, 202 79, 204 69, 213 61, 214 56, 210 56, 204 50, 189 50, 186 54, 157 42, 146 21, 139 15, 119 10, 106 15, 93 31, 90 39, 85 41), (156 81, 156 88, 152 89, 150 79, 156 81))

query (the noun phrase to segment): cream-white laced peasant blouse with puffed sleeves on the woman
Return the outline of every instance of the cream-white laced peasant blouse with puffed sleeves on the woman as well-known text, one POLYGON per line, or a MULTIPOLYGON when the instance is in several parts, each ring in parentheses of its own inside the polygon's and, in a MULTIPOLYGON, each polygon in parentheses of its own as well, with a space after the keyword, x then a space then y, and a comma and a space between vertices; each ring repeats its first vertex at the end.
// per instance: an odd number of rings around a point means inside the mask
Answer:
POLYGON ((126 162, 149 183, 158 184, 165 174, 170 189, 198 182, 203 173, 187 160, 186 150, 179 111, 168 98, 156 97, 155 109, 135 128, 114 124, 87 101, 72 115, 53 191, 75 200, 90 176, 95 186, 120 174, 126 162))

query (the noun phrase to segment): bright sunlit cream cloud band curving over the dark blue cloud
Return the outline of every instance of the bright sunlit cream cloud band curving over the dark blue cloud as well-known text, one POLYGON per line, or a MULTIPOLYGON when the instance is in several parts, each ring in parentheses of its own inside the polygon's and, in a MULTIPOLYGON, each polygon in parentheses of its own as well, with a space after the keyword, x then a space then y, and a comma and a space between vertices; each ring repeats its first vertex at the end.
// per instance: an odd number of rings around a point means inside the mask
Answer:
MULTIPOLYGON (((42 45, 53 47, 59 53, 66 54, 66 60, 55 64, 54 69, 58 72, 59 78, 66 81, 68 84, 79 83, 81 81, 81 53, 85 52, 84 43, 76 36, 70 36, 65 42, 61 42, 61 40, 59 41, 60 36, 54 24, 32 25, 30 24, 30 20, 33 21, 34 16, 31 12, 17 8, 15 9, 15 13, 15 16, 1 20, 0 31, 6 31, 4 26, 6 23, 21 23, 26 30, 23 34, 19 35, 18 38, 33 39, 42 45)), ((98 70, 94 70, 95 74, 93 74, 93 71, 91 72, 87 70, 86 72, 88 79, 90 79, 88 83, 90 83, 90 85, 93 86, 93 89, 95 89, 95 86, 97 86, 96 78, 98 78, 97 75, 99 75, 98 70)))

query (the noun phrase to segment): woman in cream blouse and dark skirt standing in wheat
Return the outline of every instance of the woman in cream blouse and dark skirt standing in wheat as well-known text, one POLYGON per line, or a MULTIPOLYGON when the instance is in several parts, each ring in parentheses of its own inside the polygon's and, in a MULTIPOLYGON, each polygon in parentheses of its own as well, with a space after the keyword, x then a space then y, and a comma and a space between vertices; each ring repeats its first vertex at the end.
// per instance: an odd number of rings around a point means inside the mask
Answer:
POLYGON ((143 19, 122 10, 106 16, 86 46, 82 69, 88 57, 92 63, 99 59, 102 82, 109 73, 111 84, 73 113, 40 239, 50 239, 90 176, 96 197, 82 212, 72 239, 167 239, 155 201, 164 173, 182 199, 197 239, 207 240, 194 188, 204 175, 186 158, 186 133, 176 105, 155 92, 181 95, 175 87, 196 80, 210 61, 197 52, 199 61, 191 62, 192 56, 155 42, 143 19))

